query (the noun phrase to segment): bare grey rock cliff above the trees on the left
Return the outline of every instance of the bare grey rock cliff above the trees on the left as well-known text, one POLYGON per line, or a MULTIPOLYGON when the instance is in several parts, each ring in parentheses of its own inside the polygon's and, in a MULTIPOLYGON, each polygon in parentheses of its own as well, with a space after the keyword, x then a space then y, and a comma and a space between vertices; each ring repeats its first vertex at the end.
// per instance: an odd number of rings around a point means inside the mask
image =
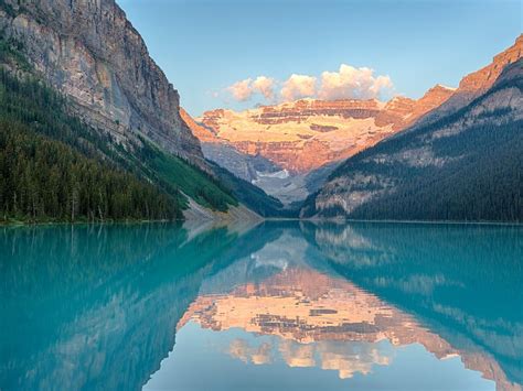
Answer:
POLYGON ((114 0, 3 0, 0 31, 89 124, 122 143, 140 134, 204 166, 178 91, 114 0))

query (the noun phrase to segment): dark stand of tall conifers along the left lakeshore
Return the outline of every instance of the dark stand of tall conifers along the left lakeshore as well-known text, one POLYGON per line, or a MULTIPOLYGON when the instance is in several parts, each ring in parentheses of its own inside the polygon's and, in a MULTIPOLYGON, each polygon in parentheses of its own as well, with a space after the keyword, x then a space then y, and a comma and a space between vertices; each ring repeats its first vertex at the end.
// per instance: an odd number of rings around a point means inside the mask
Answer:
POLYGON ((181 218, 151 184, 88 159, 31 127, 0 119, 0 220, 181 218))

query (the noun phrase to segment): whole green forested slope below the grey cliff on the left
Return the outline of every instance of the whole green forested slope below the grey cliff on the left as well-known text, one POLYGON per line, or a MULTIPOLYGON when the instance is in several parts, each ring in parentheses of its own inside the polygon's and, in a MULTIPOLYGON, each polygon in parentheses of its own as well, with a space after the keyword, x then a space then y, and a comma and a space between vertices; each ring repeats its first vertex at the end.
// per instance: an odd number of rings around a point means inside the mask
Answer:
POLYGON ((175 219, 185 196, 211 209, 237 205, 211 174, 138 137, 122 145, 67 111, 67 99, 0 42, 1 220, 175 219))

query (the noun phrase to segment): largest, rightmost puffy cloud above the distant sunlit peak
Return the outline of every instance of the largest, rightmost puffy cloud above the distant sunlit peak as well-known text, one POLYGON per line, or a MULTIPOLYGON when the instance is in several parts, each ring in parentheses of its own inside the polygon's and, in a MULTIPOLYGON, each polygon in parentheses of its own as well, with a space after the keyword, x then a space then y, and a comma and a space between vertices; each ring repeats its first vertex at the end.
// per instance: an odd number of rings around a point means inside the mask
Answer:
POLYGON ((393 88, 388 76, 374 76, 367 67, 355 68, 341 64, 339 72, 323 72, 318 91, 320 99, 371 99, 378 98, 393 88))

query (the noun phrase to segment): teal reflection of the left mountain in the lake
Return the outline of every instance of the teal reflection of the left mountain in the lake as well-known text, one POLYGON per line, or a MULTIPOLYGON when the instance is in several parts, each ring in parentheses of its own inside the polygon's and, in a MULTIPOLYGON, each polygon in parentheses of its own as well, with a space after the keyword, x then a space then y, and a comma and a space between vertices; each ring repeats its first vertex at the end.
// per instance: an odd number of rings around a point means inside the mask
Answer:
POLYGON ((238 256, 239 236, 177 225, 6 228, 0 388, 139 389, 172 349, 201 281, 238 256))

